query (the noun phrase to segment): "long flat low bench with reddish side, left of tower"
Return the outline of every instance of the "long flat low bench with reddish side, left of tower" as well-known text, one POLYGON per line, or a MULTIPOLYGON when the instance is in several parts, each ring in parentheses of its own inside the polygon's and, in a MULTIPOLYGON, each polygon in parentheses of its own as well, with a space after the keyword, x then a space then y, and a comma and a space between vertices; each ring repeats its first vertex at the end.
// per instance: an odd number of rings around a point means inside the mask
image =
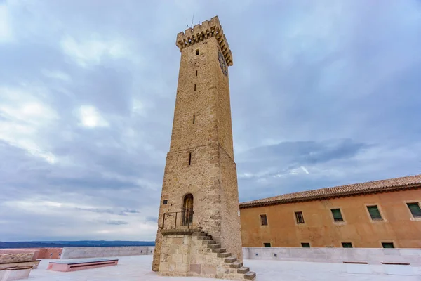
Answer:
POLYGON ((50 261, 48 270, 54 271, 75 271, 89 268, 100 268, 104 266, 116 266, 118 259, 74 259, 67 261, 50 261))

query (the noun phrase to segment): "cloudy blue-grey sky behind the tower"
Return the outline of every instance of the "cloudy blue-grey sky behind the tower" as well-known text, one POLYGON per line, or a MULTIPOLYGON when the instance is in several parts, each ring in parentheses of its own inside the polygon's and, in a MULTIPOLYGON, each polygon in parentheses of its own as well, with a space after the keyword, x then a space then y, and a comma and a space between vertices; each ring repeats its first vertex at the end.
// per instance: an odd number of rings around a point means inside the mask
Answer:
POLYGON ((241 202, 421 174, 419 0, 0 0, 0 241, 154 240, 193 14, 232 48, 241 202))

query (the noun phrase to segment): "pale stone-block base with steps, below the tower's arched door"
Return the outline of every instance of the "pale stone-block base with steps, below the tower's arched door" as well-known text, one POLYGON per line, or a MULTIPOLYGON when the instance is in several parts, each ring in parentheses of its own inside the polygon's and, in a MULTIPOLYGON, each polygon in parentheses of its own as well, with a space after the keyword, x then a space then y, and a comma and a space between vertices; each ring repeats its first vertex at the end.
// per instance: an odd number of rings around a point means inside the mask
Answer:
POLYGON ((161 231, 159 275, 255 280, 255 273, 200 229, 161 231))

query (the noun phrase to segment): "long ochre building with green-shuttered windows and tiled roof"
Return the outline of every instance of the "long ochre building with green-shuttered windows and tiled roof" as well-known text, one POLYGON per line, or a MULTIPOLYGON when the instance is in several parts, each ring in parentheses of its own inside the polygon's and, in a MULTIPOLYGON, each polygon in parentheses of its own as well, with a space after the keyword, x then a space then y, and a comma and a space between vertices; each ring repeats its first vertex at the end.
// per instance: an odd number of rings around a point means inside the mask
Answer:
POLYGON ((421 248, 421 176, 240 204, 243 247, 421 248))

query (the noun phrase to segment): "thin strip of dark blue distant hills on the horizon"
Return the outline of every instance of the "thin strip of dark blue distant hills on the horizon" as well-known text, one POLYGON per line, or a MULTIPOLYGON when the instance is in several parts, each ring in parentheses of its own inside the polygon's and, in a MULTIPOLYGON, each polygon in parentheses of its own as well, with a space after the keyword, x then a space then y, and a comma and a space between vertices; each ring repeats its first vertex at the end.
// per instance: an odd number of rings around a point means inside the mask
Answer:
POLYGON ((123 246, 155 246, 153 241, 30 241, 1 242, 0 249, 11 248, 64 248, 64 247, 123 247, 123 246))

